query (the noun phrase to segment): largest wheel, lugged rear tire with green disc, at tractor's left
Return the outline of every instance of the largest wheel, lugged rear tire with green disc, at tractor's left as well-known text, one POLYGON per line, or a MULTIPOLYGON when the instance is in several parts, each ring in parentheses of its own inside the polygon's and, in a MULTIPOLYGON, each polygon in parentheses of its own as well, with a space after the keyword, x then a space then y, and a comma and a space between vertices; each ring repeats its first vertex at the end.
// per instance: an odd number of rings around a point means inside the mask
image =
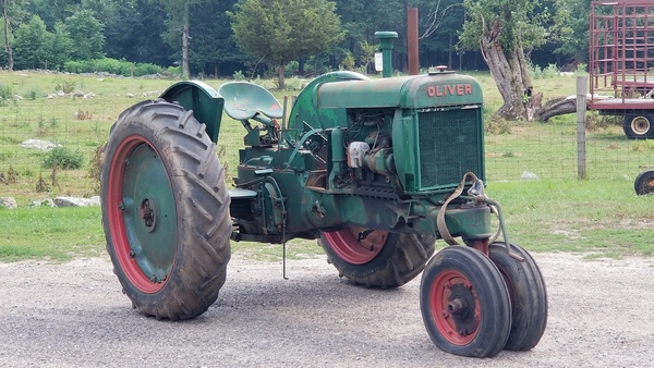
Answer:
POLYGON ((132 306, 157 319, 203 314, 230 258, 225 170, 205 125, 144 101, 111 127, 100 172, 107 250, 132 306))

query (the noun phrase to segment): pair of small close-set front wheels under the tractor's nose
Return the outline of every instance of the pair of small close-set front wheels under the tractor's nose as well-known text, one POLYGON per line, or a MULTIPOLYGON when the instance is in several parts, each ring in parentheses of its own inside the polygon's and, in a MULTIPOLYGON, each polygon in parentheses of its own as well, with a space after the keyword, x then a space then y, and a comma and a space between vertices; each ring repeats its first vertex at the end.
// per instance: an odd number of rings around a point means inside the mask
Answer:
POLYGON ((432 341, 440 349, 492 357, 501 349, 534 347, 547 323, 547 293, 526 250, 504 243, 488 257, 450 246, 429 260, 422 277, 421 310, 432 341))

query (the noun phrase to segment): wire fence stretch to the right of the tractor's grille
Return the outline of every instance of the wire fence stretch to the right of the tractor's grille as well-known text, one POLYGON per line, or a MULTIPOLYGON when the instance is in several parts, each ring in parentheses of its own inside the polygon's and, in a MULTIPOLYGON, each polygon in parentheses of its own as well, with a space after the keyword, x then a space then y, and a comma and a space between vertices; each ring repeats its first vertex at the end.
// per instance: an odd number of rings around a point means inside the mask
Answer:
POLYGON ((628 139, 621 126, 585 130, 585 163, 578 162, 574 115, 557 124, 522 123, 510 133, 486 134, 486 172, 491 181, 633 179, 654 164, 654 142, 628 139))

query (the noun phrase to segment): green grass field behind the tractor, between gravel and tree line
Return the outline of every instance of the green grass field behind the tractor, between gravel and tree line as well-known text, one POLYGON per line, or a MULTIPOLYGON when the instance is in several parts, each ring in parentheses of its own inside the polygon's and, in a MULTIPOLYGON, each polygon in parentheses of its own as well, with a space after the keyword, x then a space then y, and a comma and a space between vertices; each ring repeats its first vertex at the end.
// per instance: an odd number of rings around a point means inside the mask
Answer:
MULTIPOLYGON (((501 105, 497 89, 488 74, 474 76, 484 87, 485 110, 491 114, 501 105)), ((0 260, 63 261, 102 254, 99 208, 29 208, 29 204, 57 195, 97 194, 97 184, 89 177, 94 152, 104 145, 120 111, 173 82, 0 72, 0 89, 9 86, 12 94, 23 97, 0 103, 0 173, 7 176, 10 167, 15 172, 14 183, 0 183, 0 197, 13 196, 20 206, 0 209, 0 260), (43 97, 71 86, 95 97, 43 97), (84 165, 53 174, 43 168, 46 152, 20 147, 28 138, 78 151, 84 165), (39 177, 49 184, 45 192, 36 188, 39 177)), ((205 82, 217 88, 225 81, 205 82)), ((290 85, 301 84, 290 81, 290 85)), ((574 78, 570 77, 535 79, 534 85, 546 98, 574 94, 574 78)), ((266 86, 271 87, 272 82, 266 86)), ((296 93, 275 94, 281 99, 296 93)), ((652 165, 651 142, 629 140, 620 126, 595 120, 586 136, 588 180, 578 181, 574 115, 557 116, 548 123, 486 121, 487 194, 502 204, 511 242, 530 250, 585 252, 589 257, 652 255, 654 197, 633 193, 635 175, 652 165), (521 181, 525 171, 538 180, 521 181)), ((219 144, 226 147, 222 161, 232 176, 243 133, 240 123, 225 116, 219 144)), ((281 256, 279 245, 232 246, 234 252, 256 258, 281 256)), ((293 241, 288 247, 291 257, 320 253, 314 241, 293 241)))

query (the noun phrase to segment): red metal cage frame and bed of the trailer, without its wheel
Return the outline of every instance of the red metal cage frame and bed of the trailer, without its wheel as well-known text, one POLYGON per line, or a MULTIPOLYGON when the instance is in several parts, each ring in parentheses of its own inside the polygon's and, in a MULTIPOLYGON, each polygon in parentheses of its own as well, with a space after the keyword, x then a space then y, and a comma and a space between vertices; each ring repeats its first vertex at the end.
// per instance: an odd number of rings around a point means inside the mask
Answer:
POLYGON ((654 1, 593 1, 589 51, 589 108, 654 114, 654 1))

